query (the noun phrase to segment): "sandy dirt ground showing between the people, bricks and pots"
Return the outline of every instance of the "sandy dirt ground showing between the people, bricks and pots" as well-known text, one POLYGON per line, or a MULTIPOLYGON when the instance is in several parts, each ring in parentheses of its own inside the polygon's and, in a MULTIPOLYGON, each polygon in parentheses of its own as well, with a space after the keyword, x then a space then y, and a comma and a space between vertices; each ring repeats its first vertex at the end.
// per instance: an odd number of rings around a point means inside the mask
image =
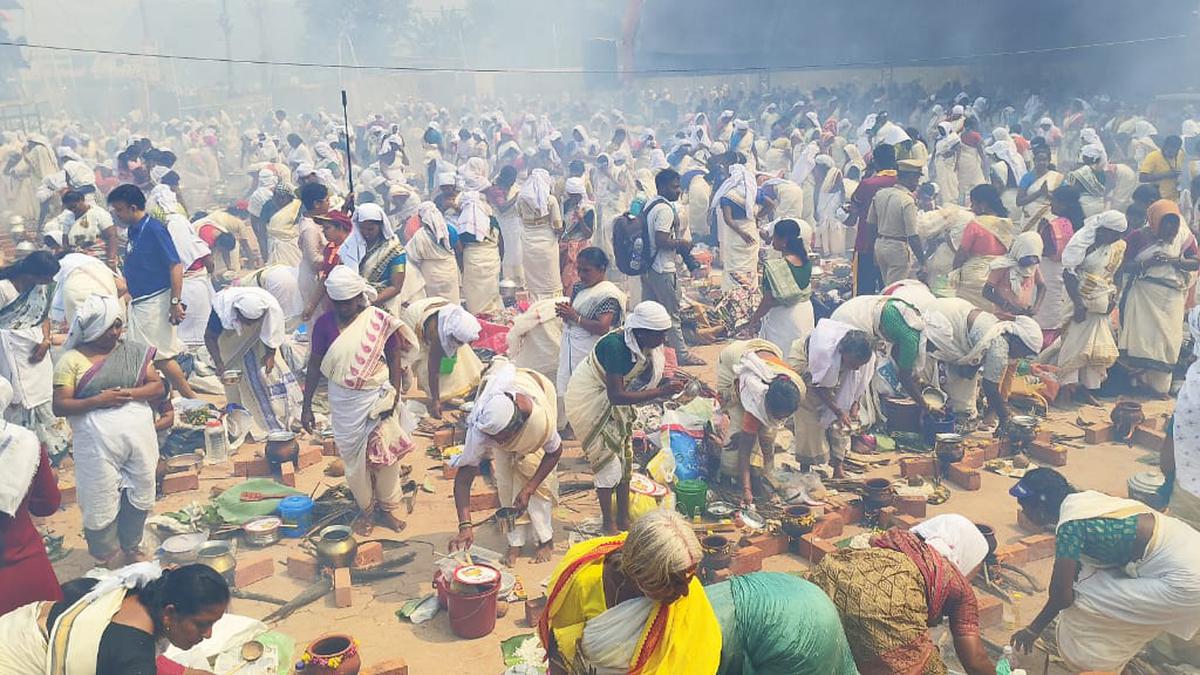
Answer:
MULTIPOLYGON (((689 371, 701 376, 707 382, 715 382, 715 363, 719 350, 720 346, 697 348, 696 353, 704 358, 709 365, 689 369, 689 371)), ((1080 417, 1096 422, 1106 420, 1112 402, 1108 401, 1104 408, 1082 407, 1051 411, 1050 419, 1043 424, 1043 429, 1056 434, 1081 435, 1081 430, 1073 423, 1080 417)), ((1166 413, 1172 405, 1171 401, 1147 401, 1145 402, 1147 417, 1153 418, 1166 413)), ((407 573, 397 580, 355 587, 354 603, 350 608, 336 608, 332 595, 330 595, 323 601, 296 611, 289 619, 275 625, 274 628, 290 635, 296 641, 298 650, 326 632, 336 631, 350 634, 359 639, 362 661, 367 665, 390 658, 403 658, 409 665, 409 671, 414 674, 502 673, 504 665, 500 656, 500 641, 532 632, 524 625, 524 611, 521 604, 514 604, 508 615, 498 620, 492 634, 475 640, 462 640, 455 637, 450 632, 444 611, 439 613, 432 621, 420 626, 400 620, 395 615, 396 610, 409 598, 431 592, 434 551, 443 554, 446 551, 446 542, 454 534, 457 522, 451 483, 442 478, 440 466, 425 455, 424 450, 428 440, 419 438, 418 441, 420 446, 410 455, 414 478, 420 483, 422 474, 430 472, 434 476, 432 484, 436 486, 436 491, 434 494, 421 492, 418 496, 415 509, 408 516, 408 527, 402 534, 390 534, 382 527, 377 527, 374 534, 376 537, 396 537, 408 542, 410 550, 418 555, 415 561, 406 567, 407 573)), ((1157 458, 1150 450, 1139 447, 1129 448, 1115 443, 1085 446, 1082 440, 1078 443, 1084 447, 1070 449, 1069 464, 1063 468, 1066 476, 1079 488, 1103 490, 1120 496, 1126 495, 1128 477, 1139 471, 1153 468, 1147 464, 1147 458, 1157 458)), ((256 449, 260 452, 258 447, 246 446, 240 449, 238 456, 246 456, 256 449)), ((337 479, 326 478, 323 474, 323 467, 329 461, 331 460, 325 458, 320 465, 300 472, 298 488, 311 492, 320 485, 334 484, 337 479)), ((572 478, 587 480, 588 476, 582 471, 583 466, 577 443, 568 443, 559 470, 560 482, 565 483, 572 478)), ((898 473, 899 468, 895 464, 872 472, 872 474, 888 477, 898 476, 898 473)), ((71 476, 64 476, 61 482, 68 484, 72 479, 71 476)), ((228 476, 227 470, 205 467, 200 479, 200 491, 164 497, 157 504, 156 513, 174 510, 193 501, 203 501, 210 490, 228 488, 236 483, 238 479, 228 476)), ((942 506, 930 507, 929 513, 930 515, 961 513, 974 521, 991 524, 996 528, 1001 544, 1015 542, 1025 533, 1016 528, 1016 502, 1007 494, 1012 483, 1012 479, 983 472, 982 490, 967 492, 952 486, 950 500, 942 506)), ((527 551, 514 569, 530 596, 535 597, 541 593, 542 584, 548 579, 558 557, 566 549, 568 534, 563 528, 572 522, 595 518, 596 514, 598 507, 590 491, 578 492, 563 500, 562 506, 556 512, 556 560, 534 565, 530 558, 532 551, 527 551)), ((71 549, 70 555, 55 565, 61 580, 76 578, 90 568, 91 560, 82 537, 80 515, 77 506, 62 509, 54 516, 46 519, 42 525, 58 534, 65 534, 65 546, 71 549)), ((857 532, 859 530, 847 527, 846 536, 857 532)), ((504 538, 492 526, 476 528, 476 544, 497 551, 504 550, 504 538)), ((284 539, 283 543, 268 549, 277 561, 275 575, 253 584, 246 590, 280 598, 290 598, 300 592, 305 584, 287 577, 283 565, 288 554, 298 548, 296 540, 284 539)), ((242 554, 241 557, 250 555, 259 554, 254 551, 242 554)), ((1026 571, 1034 574, 1044 586, 1049 579, 1050 563, 1049 560, 1032 563, 1026 571)), ((803 571, 805 566, 806 563, 799 557, 784 554, 767 558, 763 569, 798 572, 803 571)), ((1016 627, 1028 623, 1044 601, 1044 595, 1025 598, 1015 614, 1016 627)), ((274 607, 270 604, 242 599, 234 599, 230 608, 234 613, 253 617, 265 616, 274 607)), ((1007 628, 992 628, 986 632, 986 637, 997 644, 1003 644, 1008 641, 1010 633, 1012 631, 1007 628)), ((1043 673, 1040 657, 1030 659, 1030 663, 1022 662, 1022 665, 1028 669, 1031 675, 1043 673)), ((1051 669, 1050 671, 1061 670, 1051 669)))

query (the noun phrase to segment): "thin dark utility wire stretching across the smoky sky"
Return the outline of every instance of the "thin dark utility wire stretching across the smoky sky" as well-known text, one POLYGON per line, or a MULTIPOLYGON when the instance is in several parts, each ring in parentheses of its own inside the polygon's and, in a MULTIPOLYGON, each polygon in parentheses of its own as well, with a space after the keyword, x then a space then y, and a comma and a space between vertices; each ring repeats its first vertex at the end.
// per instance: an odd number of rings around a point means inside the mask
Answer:
POLYGON ((1021 56, 1032 54, 1054 54, 1063 52, 1078 52, 1082 49, 1097 49, 1106 47, 1128 47, 1134 44, 1147 44, 1154 42, 1170 42, 1186 40, 1188 36, 1160 35, 1157 37, 1141 37, 1136 40, 1117 40, 1110 42, 1092 42, 1087 44, 1068 44, 1061 47, 1039 47, 1031 49, 1013 49, 1007 52, 988 52, 982 54, 964 54, 947 56, 928 56, 920 59, 881 59, 874 61, 846 61, 839 64, 808 64, 808 65, 773 65, 773 66, 738 66, 730 68, 522 68, 522 67, 451 67, 451 66, 384 66, 377 64, 328 64, 318 61, 270 61, 265 59, 227 59, 222 56, 197 56, 191 54, 154 54, 150 52, 124 52, 119 49, 90 49, 84 47, 67 47, 62 44, 41 44, 34 42, 0 41, 0 47, 18 47, 28 49, 43 49, 47 52, 70 52, 74 54, 94 54, 103 56, 131 56, 137 59, 167 59, 176 61, 197 61, 210 64, 234 64, 245 66, 282 66, 293 68, 332 68, 350 71, 386 71, 386 72, 416 72, 416 73, 484 73, 484 74, 738 74, 760 73, 772 71, 805 71, 805 70, 839 70, 853 67, 904 67, 920 66, 929 64, 946 64, 958 61, 970 61, 977 59, 989 59, 1000 56, 1021 56))

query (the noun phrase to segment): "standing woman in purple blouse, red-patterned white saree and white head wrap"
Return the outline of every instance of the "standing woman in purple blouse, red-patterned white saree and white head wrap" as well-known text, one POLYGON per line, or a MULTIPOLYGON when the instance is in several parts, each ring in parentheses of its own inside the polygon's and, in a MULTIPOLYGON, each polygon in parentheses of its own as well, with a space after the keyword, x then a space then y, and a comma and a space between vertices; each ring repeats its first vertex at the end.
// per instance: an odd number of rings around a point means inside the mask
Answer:
POLYGON ((346 483, 361 514, 354 521, 368 534, 374 521, 400 532, 400 460, 413 441, 400 425, 401 375, 416 351, 412 330, 371 304, 374 288, 338 265, 325 280, 334 309, 313 324, 305 382, 305 429, 314 429, 312 399, 320 377, 329 378, 329 417, 346 483))

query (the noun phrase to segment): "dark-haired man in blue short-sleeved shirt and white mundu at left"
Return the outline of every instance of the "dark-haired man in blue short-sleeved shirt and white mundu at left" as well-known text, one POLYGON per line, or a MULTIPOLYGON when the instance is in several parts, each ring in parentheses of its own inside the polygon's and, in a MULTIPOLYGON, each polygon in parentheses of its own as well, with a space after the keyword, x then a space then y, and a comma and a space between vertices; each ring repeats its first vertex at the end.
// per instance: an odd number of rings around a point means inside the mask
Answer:
POLYGON ((146 198, 137 185, 114 187, 108 193, 108 207, 128 227, 122 271, 132 298, 130 336, 154 347, 155 368, 181 395, 196 398, 175 362, 175 354, 182 350, 175 327, 184 321, 186 310, 180 301, 184 264, 175 243, 166 225, 146 215, 146 198))

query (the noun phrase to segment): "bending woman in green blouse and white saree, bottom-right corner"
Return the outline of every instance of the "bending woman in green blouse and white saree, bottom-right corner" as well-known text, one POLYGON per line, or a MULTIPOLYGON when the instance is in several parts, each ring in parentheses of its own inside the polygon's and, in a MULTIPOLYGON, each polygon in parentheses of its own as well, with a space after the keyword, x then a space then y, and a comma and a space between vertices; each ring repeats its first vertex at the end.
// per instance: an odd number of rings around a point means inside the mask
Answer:
POLYGON ((1151 640, 1190 640, 1200 629, 1200 532, 1133 500, 1076 491, 1052 468, 1009 492, 1022 513, 1055 527, 1049 597, 1013 644, 1028 652, 1057 617, 1070 671, 1121 673, 1151 640))

